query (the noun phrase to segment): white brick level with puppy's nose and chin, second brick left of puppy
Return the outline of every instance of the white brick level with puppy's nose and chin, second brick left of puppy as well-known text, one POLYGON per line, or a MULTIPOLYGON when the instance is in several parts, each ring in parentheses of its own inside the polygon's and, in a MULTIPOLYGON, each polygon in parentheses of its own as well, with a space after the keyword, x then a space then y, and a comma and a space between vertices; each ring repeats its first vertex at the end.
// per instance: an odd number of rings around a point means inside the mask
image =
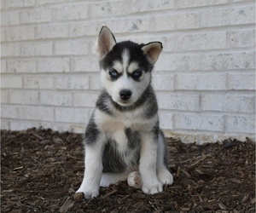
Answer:
POLYGON ((70 92, 41 91, 40 104, 49 106, 72 106, 72 94, 70 92))

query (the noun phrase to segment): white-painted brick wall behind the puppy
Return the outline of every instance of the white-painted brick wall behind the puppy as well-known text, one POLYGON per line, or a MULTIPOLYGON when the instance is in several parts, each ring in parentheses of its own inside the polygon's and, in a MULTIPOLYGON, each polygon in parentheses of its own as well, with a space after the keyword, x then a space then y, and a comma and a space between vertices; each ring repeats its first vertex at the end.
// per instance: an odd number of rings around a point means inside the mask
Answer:
POLYGON ((96 36, 159 40, 161 127, 183 141, 255 138, 253 0, 1 1, 1 128, 83 132, 99 83, 96 36))

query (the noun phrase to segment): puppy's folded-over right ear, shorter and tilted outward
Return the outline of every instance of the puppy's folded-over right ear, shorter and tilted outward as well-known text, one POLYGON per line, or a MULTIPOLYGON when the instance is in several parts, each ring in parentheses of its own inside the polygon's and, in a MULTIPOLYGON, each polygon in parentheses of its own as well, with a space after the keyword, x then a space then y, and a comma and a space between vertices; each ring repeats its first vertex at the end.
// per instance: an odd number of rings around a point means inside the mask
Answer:
POLYGON ((154 64, 163 49, 162 43, 160 42, 151 42, 145 44, 143 47, 143 53, 147 55, 148 60, 151 64, 154 64))

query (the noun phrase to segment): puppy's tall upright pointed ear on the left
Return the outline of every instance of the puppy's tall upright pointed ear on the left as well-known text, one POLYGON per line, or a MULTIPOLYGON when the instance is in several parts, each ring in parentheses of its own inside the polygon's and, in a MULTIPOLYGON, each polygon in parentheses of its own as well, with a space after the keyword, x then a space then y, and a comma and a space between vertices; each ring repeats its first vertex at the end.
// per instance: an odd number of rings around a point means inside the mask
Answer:
POLYGON ((115 38, 112 32, 108 29, 108 26, 102 26, 101 32, 97 37, 97 55, 98 59, 101 60, 108 52, 113 49, 114 44, 116 44, 115 38))

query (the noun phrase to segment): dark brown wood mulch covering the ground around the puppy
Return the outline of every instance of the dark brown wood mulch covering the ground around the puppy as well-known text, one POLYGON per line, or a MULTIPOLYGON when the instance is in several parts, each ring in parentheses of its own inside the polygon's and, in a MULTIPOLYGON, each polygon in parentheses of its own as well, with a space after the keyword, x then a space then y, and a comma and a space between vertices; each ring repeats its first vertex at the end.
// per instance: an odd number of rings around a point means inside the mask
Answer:
POLYGON ((148 195, 125 181, 96 199, 75 191, 83 179, 81 135, 1 131, 2 212, 255 212, 255 143, 201 146, 168 140, 174 184, 148 195))

